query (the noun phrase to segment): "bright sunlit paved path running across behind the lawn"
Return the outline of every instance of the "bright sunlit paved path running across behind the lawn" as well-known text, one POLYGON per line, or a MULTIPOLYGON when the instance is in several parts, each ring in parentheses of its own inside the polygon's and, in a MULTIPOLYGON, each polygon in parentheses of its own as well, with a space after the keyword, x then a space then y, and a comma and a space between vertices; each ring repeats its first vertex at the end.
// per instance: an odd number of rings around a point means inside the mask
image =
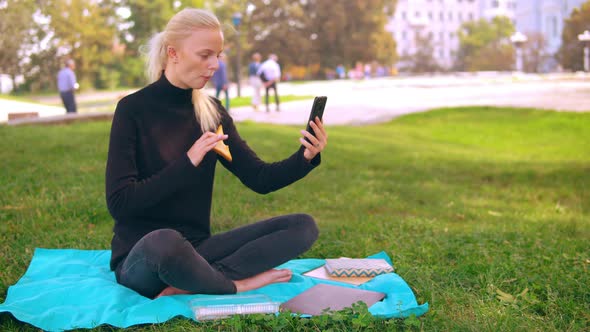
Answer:
MULTIPOLYGON (((468 105, 590 111, 590 75, 587 74, 540 76, 480 73, 362 81, 317 81, 305 84, 281 83, 279 91, 283 95, 328 96, 324 113, 324 121, 328 125, 364 125, 432 108, 468 105)), ((235 88, 232 92, 235 94, 235 88)), ((242 95, 250 94, 248 86, 242 87, 242 95)), ((121 92, 100 93, 100 99, 117 100, 120 97, 121 92)), ((84 95, 80 98, 84 98, 84 95)), ((236 121, 303 125, 311 104, 311 99, 284 103, 281 105, 281 112, 270 113, 240 107, 232 108, 231 114, 236 121)), ((43 116, 63 114, 61 107, 23 105, 0 99, 0 122, 6 121, 8 110, 14 112, 19 109, 37 109, 43 116)), ((271 109, 274 109, 274 105, 271 109)))

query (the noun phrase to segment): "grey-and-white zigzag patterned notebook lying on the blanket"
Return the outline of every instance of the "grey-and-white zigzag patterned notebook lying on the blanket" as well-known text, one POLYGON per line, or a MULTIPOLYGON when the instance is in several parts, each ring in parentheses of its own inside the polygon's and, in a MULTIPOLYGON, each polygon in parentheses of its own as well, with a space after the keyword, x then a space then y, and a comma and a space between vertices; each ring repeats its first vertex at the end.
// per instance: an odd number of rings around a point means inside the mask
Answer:
POLYGON ((373 258, 326 259, 325 266, 334 277, 375 277, 393 272, 393 267, 387 261, 373 258))

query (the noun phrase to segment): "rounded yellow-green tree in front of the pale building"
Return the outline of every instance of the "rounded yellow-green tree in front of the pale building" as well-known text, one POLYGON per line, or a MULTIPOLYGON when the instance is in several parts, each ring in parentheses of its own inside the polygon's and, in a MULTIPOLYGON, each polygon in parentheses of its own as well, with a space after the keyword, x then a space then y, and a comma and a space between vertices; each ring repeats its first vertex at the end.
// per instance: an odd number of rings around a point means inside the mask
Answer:
POLYGON ((462 71, 510 70, 514 47, 510 36, 514 25, 509 18, 497 16, 464 23, 459 29, 456 69, 462 71))

